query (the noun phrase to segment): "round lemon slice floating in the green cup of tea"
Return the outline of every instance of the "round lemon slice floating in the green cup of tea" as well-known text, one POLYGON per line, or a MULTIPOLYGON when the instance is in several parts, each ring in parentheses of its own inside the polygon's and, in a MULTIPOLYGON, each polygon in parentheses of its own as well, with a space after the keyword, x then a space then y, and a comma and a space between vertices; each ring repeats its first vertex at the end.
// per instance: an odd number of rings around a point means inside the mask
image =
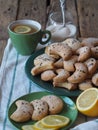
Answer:
POLYGON ((31 28, 29 26, 26 25, 18 25, 14 28, 14 32, 16 33, 29 33, 31 31, 31 28))

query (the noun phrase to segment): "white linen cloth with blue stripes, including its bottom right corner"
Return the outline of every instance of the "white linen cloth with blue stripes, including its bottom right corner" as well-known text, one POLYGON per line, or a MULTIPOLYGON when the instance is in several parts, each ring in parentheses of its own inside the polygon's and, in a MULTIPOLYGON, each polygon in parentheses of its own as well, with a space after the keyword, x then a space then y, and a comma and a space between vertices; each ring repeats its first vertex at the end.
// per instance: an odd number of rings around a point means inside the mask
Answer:
MULTIPOLYGON (((37 49, 44 47, 39 45, 37 49)), ((18 130, 8 120, 10 104, 20 96, 42 91, 25 74, 25 63, 29 56, 19 55, 10 39, 4 51, 0 67, 0 130, 18 130)), ((71 130, 98 130, 98 120, 80 124, 71 130)))

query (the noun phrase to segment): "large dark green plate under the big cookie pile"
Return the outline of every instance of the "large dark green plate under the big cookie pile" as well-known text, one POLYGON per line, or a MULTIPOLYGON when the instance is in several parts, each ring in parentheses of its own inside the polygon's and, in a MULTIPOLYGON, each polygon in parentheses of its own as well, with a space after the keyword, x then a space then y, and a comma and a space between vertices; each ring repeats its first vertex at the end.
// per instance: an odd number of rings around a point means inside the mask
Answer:
POLYGON ((75 90, 75 91, 69 91, 65 88, 57 88, 57 87, 53 87, 52 83, 51 82, 45 82, 45 81, 42 81, 41 78, 40 78, 40 75, 37 75, 37 76, 32 76, 31 75, 31 69, 34 67, 34 59, 35 57, 37 57, 38 55, 40 54, 43 54, 44 53, 44 48, 35 52, 33 55, 31 55, 29 57, 29 59, 27 60, 26 64, 25 64, 25 72, 27 74, 27 77, 32 81, 34 82, 38 87, 41 87, 47 91, 50 91, 54 94, 57 94, 57 95, 65 95, 65 96, 78 96, 81 91, 80 90, 75 90))

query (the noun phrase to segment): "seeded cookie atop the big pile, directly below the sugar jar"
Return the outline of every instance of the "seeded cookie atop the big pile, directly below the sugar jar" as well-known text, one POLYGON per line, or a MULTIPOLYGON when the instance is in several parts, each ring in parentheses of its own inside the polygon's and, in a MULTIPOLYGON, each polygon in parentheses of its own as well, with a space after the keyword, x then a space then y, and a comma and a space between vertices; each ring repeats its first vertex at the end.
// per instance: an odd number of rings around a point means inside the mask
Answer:
POLYGON ((68 45, 72 51, 75 53, 77 49, 81 47, 81 43, 75 39, 75 38, 68 38, 65 41, 63 41, 65 45, 68 45))

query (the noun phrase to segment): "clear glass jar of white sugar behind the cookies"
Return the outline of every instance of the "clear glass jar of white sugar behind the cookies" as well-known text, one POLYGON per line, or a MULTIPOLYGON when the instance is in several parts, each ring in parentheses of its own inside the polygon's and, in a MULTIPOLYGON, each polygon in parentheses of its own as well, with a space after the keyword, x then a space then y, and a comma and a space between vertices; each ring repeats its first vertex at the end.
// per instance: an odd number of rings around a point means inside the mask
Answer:
POLYGON ((66 11, 64 16, 65 25, 63 25, 61 12, 53 12, 49 16, 46 29, 51 32, 52 42, 62 42, 66 38, 76 37, 76 26, 73 24, 72 15, 66 11))

